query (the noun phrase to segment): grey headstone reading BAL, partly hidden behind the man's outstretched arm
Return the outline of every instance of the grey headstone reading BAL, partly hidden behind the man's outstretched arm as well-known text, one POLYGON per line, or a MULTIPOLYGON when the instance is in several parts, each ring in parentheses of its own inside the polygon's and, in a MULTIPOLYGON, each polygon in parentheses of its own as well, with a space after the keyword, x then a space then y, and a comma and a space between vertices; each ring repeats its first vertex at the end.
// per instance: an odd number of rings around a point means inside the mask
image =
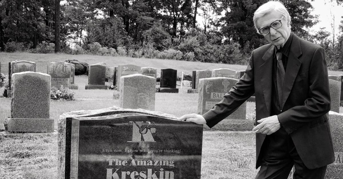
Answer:
MULTIPOLYGON (((198 111, 202 115, 212 107, 220 102, 224 95, 235 86, 237 79, 215 77, 215 78, 202 78, 199 80, 199 93, 198 93, 198 111)), ((235 112, 227 116, 220 123, 215 125, 213 130, 233 130, 245 131, 253 128, 253 120, 246 120, 246 105, 244 102, 235 112)), ((209 129, 205 126, 206 129, 209 129)))

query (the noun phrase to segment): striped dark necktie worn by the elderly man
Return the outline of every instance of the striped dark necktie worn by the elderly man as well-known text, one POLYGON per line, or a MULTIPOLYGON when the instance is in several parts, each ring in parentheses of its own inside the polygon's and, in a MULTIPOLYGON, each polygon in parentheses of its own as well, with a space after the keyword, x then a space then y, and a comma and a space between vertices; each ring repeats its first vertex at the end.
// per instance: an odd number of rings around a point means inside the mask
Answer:
POLYGON ((283 83, 285 80, 285 68, 282 64, 282 53, 276 52, 276 87, 277 97, 279 99, 280 110, 282 110, 282 94, 283 94, 283 83))

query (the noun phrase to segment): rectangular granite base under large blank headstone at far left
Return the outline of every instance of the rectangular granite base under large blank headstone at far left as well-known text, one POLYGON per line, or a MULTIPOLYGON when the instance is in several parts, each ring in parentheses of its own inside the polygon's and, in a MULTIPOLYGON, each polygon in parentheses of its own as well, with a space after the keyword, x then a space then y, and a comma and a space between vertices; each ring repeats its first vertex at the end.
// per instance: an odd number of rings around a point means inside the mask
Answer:
POLYGON ((3 123, 8 132, 54 132, 54 119, 7 118, 3 123))

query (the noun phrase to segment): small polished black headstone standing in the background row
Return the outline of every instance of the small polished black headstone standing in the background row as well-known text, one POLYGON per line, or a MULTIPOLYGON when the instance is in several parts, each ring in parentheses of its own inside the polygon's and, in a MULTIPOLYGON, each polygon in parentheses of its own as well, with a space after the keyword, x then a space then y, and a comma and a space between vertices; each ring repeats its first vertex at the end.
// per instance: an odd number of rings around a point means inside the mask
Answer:
POLYGON ((167 93, 178 93, 179 89, 176 88, 176 69, 161 69, 161 81, 160 81, 160 92, 167 93))

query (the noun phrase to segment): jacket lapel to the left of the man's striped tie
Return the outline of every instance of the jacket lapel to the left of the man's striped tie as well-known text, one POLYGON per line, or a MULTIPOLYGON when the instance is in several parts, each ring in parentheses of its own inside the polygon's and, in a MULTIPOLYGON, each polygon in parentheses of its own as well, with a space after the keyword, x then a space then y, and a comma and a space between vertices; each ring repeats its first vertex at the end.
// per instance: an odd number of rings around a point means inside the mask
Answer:
POLYGON ((259 67, 264 101, 265 101, 265 105, 267 107, 267 111, 269 114, 270 114, 270 105, 271 105, 270 97, 272 96, 271 81, 272 81, 273 58, 274 58, 274 46, 272 45, 263 55, 262 59, 264 60, 264 63, 259 67))

